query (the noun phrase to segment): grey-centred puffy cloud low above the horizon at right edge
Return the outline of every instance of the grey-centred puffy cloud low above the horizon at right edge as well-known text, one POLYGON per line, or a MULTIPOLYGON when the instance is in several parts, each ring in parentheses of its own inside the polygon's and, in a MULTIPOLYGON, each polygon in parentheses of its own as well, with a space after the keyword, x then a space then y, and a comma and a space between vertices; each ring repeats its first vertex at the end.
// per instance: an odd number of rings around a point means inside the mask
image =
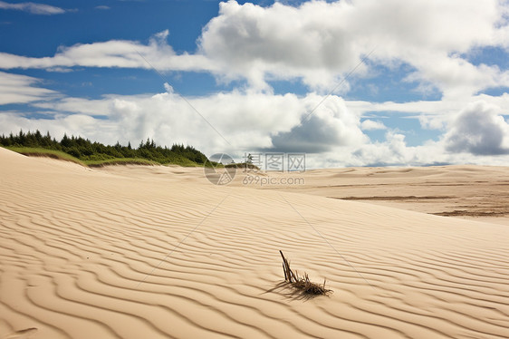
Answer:
POLYGON ((509 154, 509 124, 496 107, 474 102, 460 111, 445 135, 451 152, 475 155, 509 154))

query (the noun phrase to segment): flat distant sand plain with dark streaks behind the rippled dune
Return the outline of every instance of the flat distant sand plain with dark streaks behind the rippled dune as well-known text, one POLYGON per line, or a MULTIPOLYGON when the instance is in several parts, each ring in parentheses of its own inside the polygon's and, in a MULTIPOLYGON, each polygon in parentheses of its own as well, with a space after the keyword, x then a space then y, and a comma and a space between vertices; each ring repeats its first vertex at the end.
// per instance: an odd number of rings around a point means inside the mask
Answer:
POLYGON ((252 178, 246 180, 245 175, 239 176, 235 186, 363 201, 509 227, 508 167, 316 169, 304 173, 247 175, 252 178), (290 179, 291 184, 281 185, 282 179, 290 179))

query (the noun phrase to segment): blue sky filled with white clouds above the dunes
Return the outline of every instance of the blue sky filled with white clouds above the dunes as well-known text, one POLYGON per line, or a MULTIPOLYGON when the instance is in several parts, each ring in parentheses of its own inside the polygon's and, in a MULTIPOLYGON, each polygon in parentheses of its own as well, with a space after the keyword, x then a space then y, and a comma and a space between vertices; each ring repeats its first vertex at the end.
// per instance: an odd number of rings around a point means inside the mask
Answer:
POLYGON ((0 1, 0 133, 507 165, 508 17, 498 0, 0 1))

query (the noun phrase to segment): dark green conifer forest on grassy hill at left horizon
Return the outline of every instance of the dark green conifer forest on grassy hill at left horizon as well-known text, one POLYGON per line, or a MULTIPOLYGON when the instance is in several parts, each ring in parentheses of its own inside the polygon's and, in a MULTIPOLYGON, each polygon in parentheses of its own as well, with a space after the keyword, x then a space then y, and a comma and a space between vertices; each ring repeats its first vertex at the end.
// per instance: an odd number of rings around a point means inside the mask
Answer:
MULTIPOLYGON (((62 140, 52 138, 49 132, 43 135, 40 131, 20 131, 8 136, 2 134, 0 146, 27 155, 51 156, 58 152, 65 153, 86 165, 101 165, 107 163, 159 163, 177 164, 181 166, 197 166, 206 163, 206 156, 192 146, 174 144, 171 148, 156 145, 154 140, 141 141, 138 148, 116 145, 103 145, 101 142, 82 137, 63 135, 62 140), (52 152, 53 151, 53 152, 52 152), (145 160, 139 161, 139 160, 145 160)), ((69 160, 69 159, 67 159, 69 160)))

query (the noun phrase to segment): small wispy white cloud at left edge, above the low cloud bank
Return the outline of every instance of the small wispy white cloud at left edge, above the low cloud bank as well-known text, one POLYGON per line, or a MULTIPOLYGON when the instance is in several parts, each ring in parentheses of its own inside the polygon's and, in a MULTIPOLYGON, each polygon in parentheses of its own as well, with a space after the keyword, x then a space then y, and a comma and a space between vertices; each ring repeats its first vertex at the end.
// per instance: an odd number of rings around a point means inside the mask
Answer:
POLYGON ((56 95, 48 89, 36 87, 39 79, 13 73, 0 72, 0 105, 46 100, 56 95))

